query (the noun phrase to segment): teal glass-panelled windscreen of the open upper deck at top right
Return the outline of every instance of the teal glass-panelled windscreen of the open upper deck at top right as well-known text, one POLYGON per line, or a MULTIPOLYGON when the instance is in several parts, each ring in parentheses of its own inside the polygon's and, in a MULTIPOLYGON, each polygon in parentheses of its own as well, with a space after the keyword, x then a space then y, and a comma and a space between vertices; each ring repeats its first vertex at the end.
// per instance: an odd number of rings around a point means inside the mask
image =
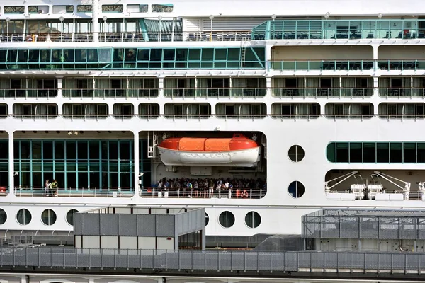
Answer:
POLYGON ((424 20, 266 21, 252 30, 253 40, 423 39, 424 20))

